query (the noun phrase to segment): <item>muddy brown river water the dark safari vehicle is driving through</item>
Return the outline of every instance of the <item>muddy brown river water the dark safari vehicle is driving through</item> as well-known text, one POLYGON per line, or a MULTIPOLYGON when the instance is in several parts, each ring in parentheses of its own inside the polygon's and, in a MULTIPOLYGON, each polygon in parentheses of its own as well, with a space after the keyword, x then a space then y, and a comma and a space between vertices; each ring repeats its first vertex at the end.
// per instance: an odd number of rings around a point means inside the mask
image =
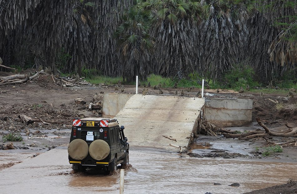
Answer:
MULTIPOLYGON (((1 193, 119 193, 119 174, 71 174, 65 148, 1 170, 1 193)), ((237 194, 297 179, 296 163, 180 158, 176 153, 149 148, 130 150, 130 163, 137 171, 126 170, 124 193, 131 194, 237 194), (228 186, 234 182, 240 187, 228 186)))

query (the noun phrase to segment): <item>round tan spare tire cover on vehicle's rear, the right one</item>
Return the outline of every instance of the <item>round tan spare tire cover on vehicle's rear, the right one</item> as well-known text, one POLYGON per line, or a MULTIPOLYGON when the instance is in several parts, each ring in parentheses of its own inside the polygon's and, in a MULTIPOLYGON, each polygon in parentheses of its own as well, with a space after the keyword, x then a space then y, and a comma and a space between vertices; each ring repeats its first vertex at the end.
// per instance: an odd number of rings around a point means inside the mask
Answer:
POLYGON ((110 148, 107 142, 102 139, 93 141, 89 147, 89 153, 95 160, 103 160, 108 156, 110 148))

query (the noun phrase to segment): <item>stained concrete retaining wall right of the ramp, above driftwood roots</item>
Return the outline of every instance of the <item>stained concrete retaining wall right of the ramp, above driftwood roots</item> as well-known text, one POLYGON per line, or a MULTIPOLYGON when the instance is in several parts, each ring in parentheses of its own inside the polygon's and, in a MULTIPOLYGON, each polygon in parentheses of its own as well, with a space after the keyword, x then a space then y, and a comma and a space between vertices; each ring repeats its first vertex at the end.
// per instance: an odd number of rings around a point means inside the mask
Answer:
POLYGON ((204 116, 218 127, 238 127, 252 121, 253 100, 205 99, 204 116))

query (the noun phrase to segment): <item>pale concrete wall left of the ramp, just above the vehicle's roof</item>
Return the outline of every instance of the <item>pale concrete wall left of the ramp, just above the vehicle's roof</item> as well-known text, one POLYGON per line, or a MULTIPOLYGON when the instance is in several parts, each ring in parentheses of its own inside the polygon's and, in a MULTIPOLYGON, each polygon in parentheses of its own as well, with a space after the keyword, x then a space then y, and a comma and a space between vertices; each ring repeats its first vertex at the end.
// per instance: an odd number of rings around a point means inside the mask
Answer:
POLYGON ((133 94, 104 93, 102 116, 113 118, 132 96, 133 94))

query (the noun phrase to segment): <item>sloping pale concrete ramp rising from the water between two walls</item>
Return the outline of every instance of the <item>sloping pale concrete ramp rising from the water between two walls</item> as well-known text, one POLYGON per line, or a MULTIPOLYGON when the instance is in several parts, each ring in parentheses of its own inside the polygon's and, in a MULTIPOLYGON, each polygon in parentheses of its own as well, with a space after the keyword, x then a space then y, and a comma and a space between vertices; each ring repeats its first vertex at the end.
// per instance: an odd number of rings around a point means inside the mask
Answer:
POLYGON ((133 146, 175 149, 169 143, 187 146, 204 99, 182 96, 133 95, 115 118, 125 126, 133 146), (165 136, 171 136, 176 142, 165 136))

